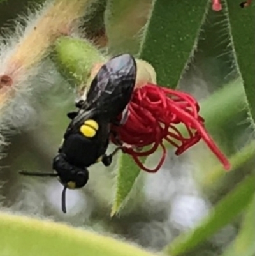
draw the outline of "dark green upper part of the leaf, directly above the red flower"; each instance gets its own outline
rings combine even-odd
[[[159,85],[177,87],[187,61],[193,56],[209,2],[154,1],[139,57],[155,68]]]

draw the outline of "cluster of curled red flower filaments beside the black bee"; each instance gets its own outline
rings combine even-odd
[[[198,115],[200,107],[191,95],[146,84],[135,89],[128,110],[126,122],[120,126],[112,125],[112,130],[120,141],[130,146],[124,146],[122,150],[130,154],[141,169],[157,172],[161,168],[166,158],[163,140],[175,146],[177,148],[175,154],[180,155],[200,139],[205,141],[225,169],[230,169],[230,162],[205,130],[204,119]],[[187,131],[186,137],[176,127],[177,124],[184,125]],[[113,137],[112,141],[117,144]],[[145,151],[139,150],[145,146],[151,147]],[[159,146],[163,149],[163,156],[156,168],[150,170],[140,162],[139,157],[149,156]]]

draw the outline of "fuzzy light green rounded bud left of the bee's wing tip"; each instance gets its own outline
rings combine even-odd
[[[54,61],[60,72],[78,84],[87,82],[94,64],[105,61],[94,45],[76,38],[59,38],[54,50]]]

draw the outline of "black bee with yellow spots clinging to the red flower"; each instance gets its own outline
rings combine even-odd
[[[112,154],[106,155],[110,139],[110,124],[116,122],[131,100],[136,80],[136,62],[130,54],[122,54],[104,64],[85,100],[76,103],[78,110],[69,112],[71,119],[62,146],[53,160],[56,173],[20,172],[30,176],[57,176],[63,184],[62,211],[66,213],[66,188],[82,188],[89,179],[90,167],[103,162],[108,166]]]

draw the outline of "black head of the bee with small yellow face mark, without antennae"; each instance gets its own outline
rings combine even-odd
[[[62,185],[69,189],[82,188],[89,180],[88,170],[71,165],[64,154],[55,156],[52,168],[57,172]]]

